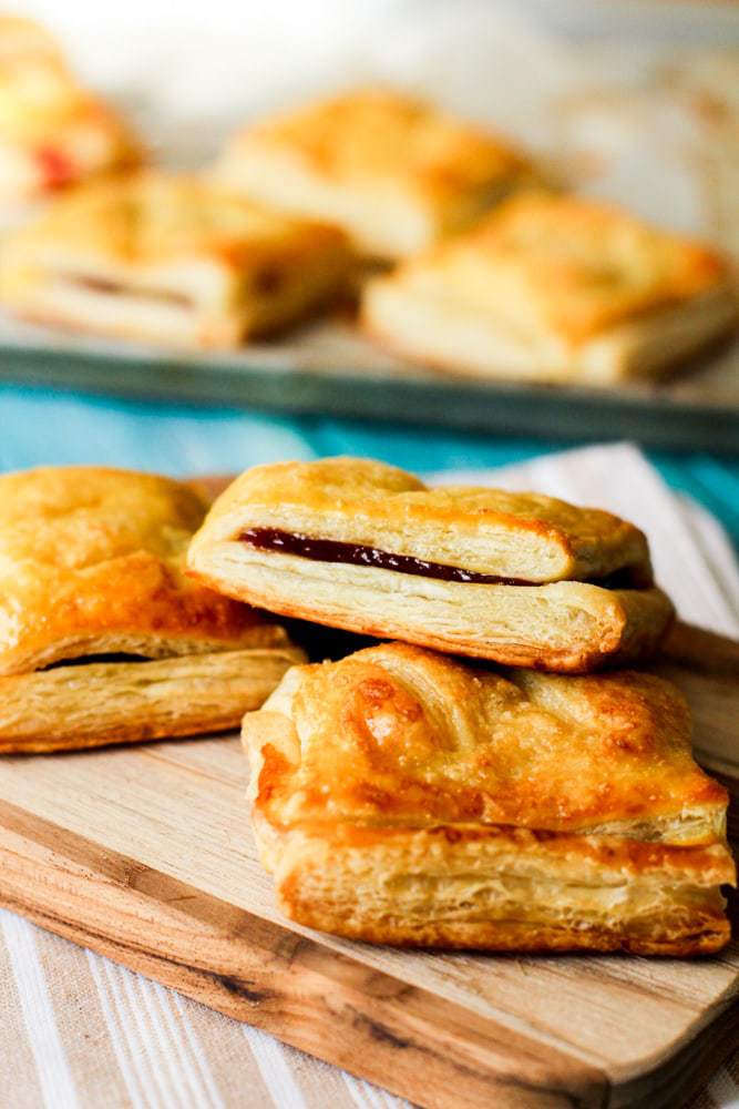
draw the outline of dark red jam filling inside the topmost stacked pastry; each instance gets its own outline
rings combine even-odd
[[[524,581],[522,578],[502,578],[496,573],[478,573],[475,570],[463,570],[459,566],[444,566],[442,562],[427,562],[424,559],[413,558],[410,554],[390,554],[377,547],[342,543],[336,539],[311,539],[310,536],[280,531],[278,528],[249,528],[247,531],[243,531],[238,538],[242,542],[256,547],[258,550],[296,554],[298,558],[311,559],[315,562],[373,566],[380,570],[412,573],[419,578],[438,578],[440,581],[469,581],[480,586],[542,584],[538,581]],[[597,584],[604,589],[634,588],[634,574],[630,568],[625,567],[623,570],[608,574],[607,578],[597,579]]]

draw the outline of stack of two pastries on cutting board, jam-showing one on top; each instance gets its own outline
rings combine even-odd
[[[727,942],[726,791],[678,691],[619,669],[673,617],[635,527],[379,462],[286,462],[220,496],[188,566],[393,640],[291,668],[244,719],[255,833],[295,920],[496,950]]]

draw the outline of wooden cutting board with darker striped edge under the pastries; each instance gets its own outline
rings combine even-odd
[[[739,782],[739,644],[678,627],[659,669]],[[234,737],[2,759],[0,903],[421,1106],[675,1107],[739,1044],[736,943],[694,962],[423,954],[284,920],[246,775]]]

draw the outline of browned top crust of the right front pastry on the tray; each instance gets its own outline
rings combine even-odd
[[[443,285],[522,333],[581,343],[727,279],[716,251],[609,205],[526,192],[472,232],[408,262],[403,281]]]

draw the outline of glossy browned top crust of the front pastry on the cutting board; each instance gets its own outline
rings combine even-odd
[[[480,670],[402,643],[294,668],[245,719],[274,826],[504,825],[722,838],[681,694],[650,674]]]

